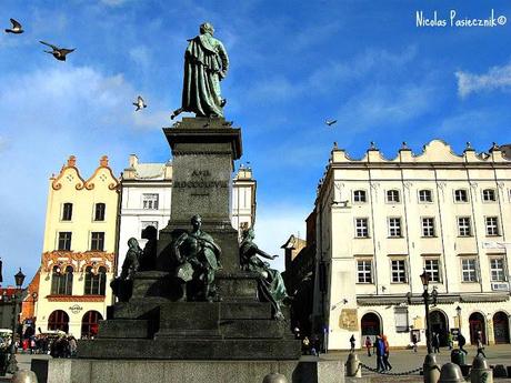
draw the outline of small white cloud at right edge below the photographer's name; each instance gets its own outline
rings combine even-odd
[[[473,74],[458,71],[458,94],[461,98],[470,93],[489,92],[492,90],[511,90],[511,63],[503,67],[493,67],[484,74]]]

